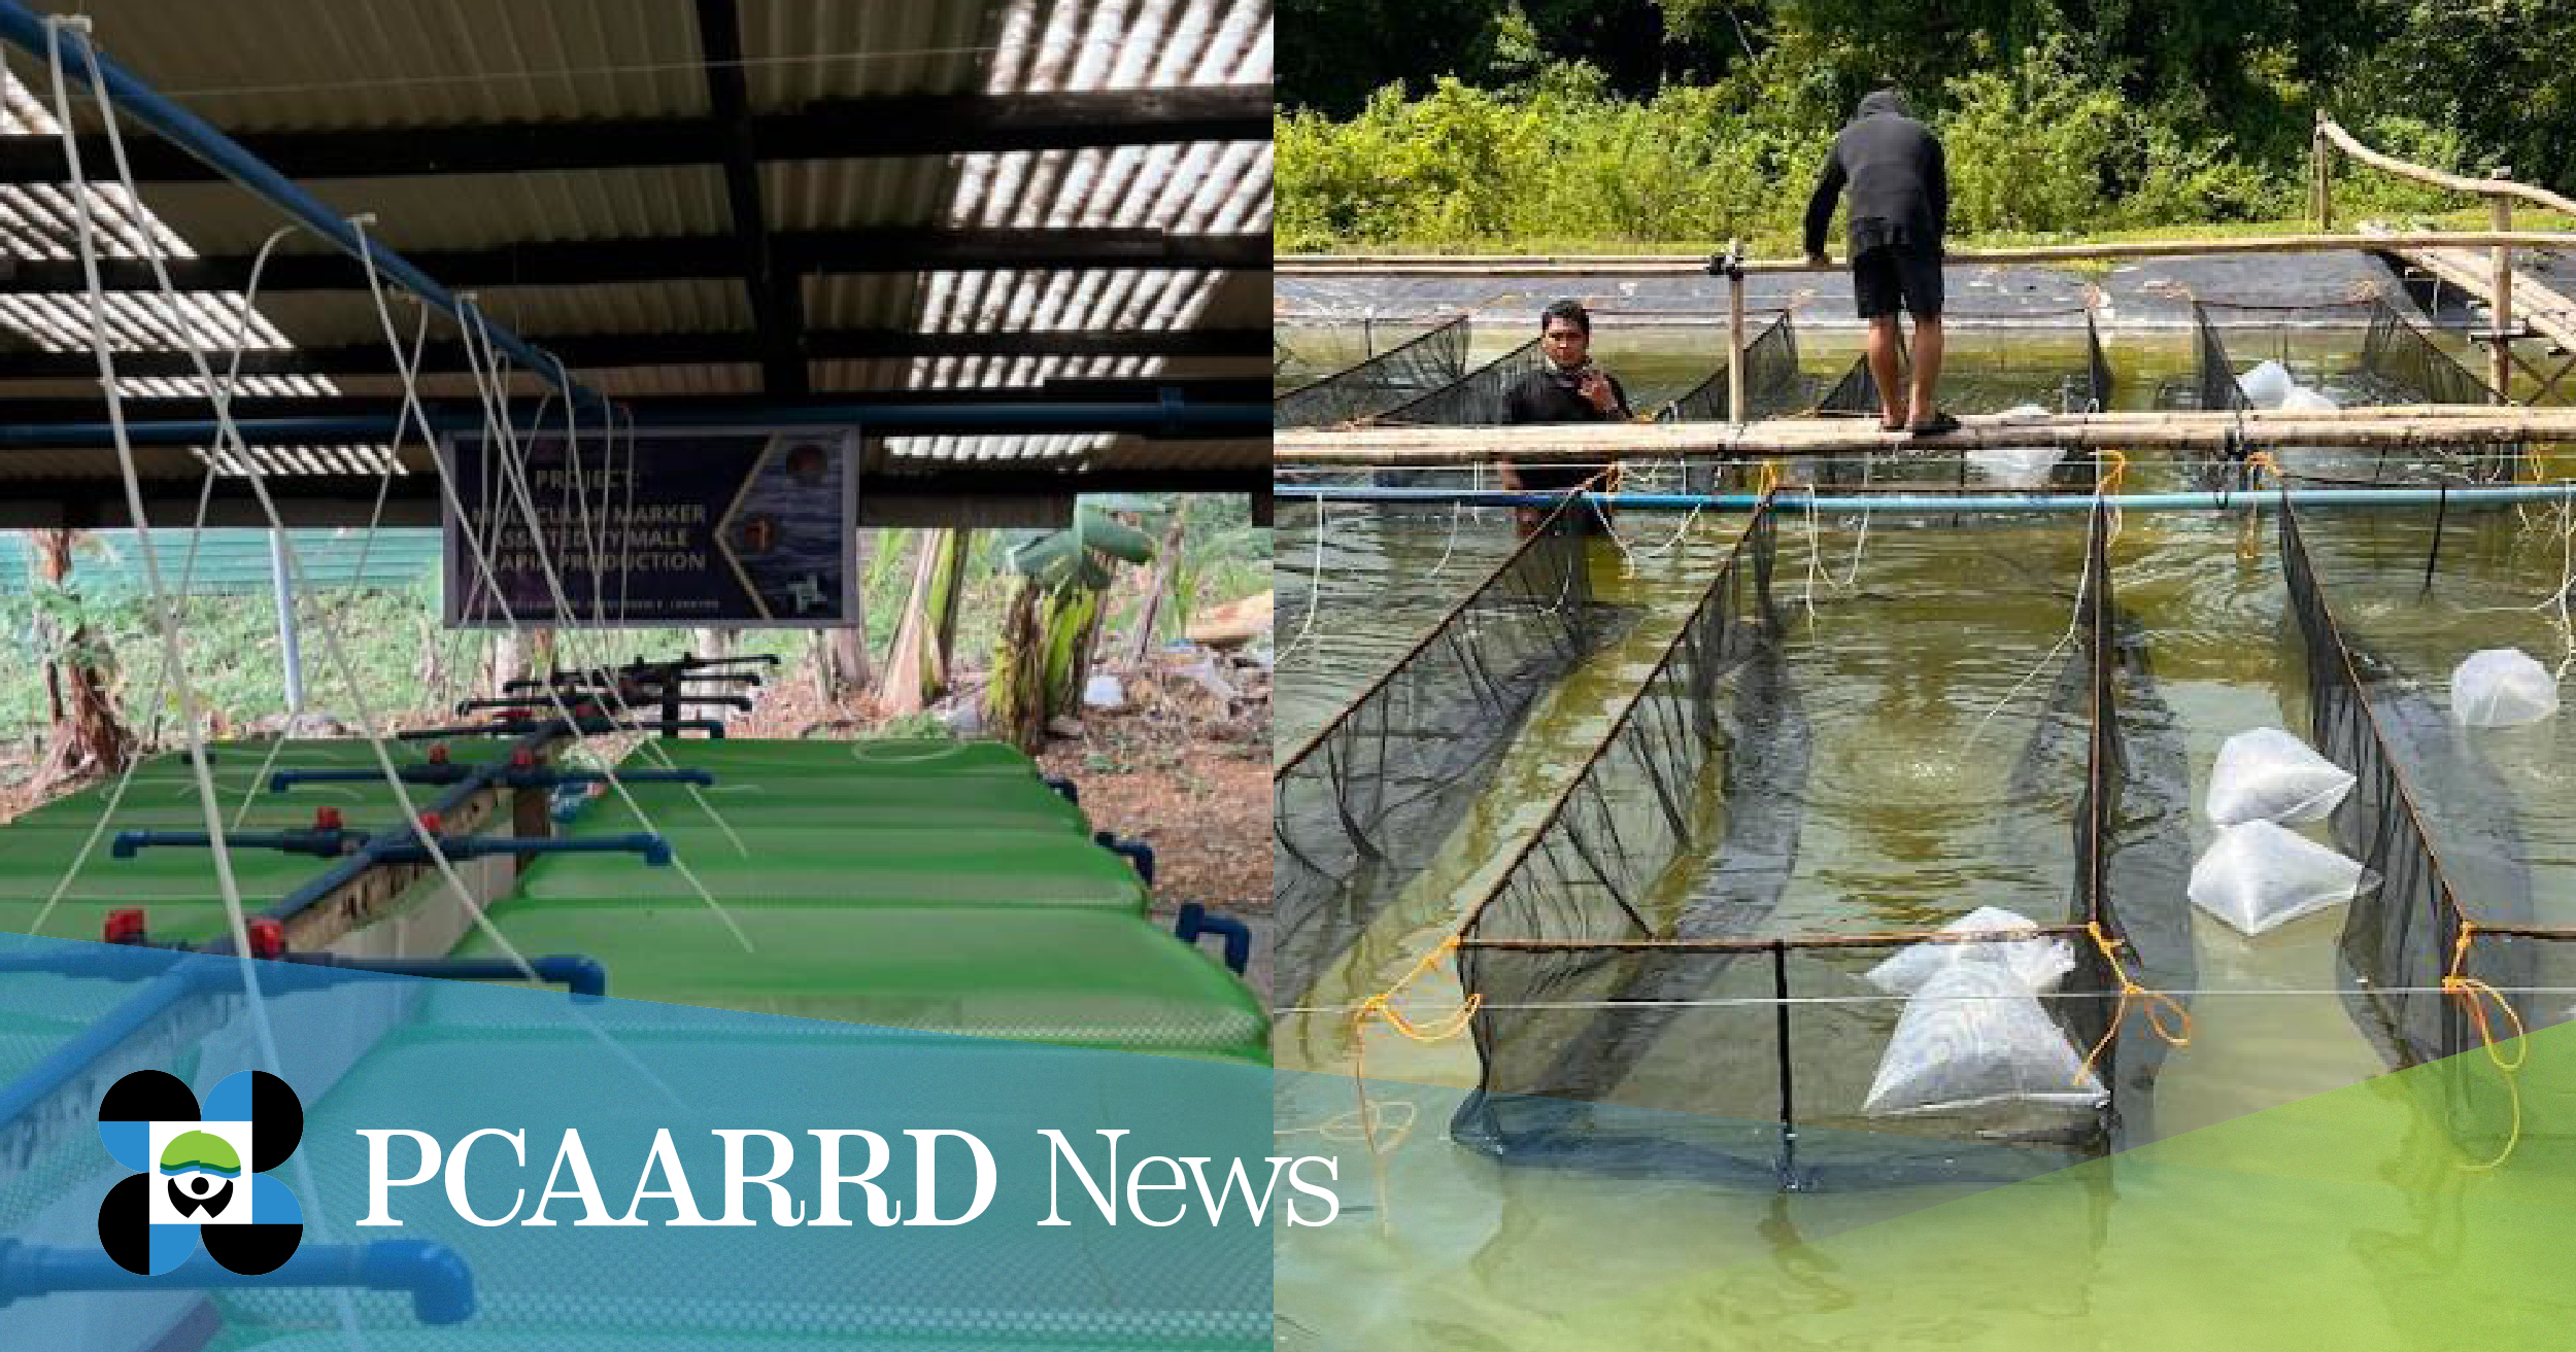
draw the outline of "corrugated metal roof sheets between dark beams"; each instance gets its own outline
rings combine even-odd
[[[232,131],[399,129],[466,121],[696,116],[706,72],[688,5],[626,0],[49,0],[95,18],[106,52]],[[902,93],[1144,90],[1270,80],[1265,0],[755,0],[742,5],[744,82],[755,108]],[[21,72],[44,75],[18,57]],[[8,116],[49,129],[36,95],[8,82]],[[93,165],[93,173],[98,167]],[[770,229],[902,224],[1015,229],[1267,232],[1270,144],[1154,144],[922,160],[770,162],[760,167]],[[716,165],[456,178],[332,180],[317,196],[374,211],[374,234],[417,250],[520,239],[639,239],[724,234]],[[0,247],[70,258],[59,191],[0,191]],[[252,252],[278,216],[232,185],[155,185],[139,229],[173,255]],[[139,239],[116,252],[131,255]],[[294,242],[289,247],[312,247]],[[716,270],[726,270],[724,258]],[[1265,273],[1247,273],[1267,291]],[[1257,327],[1239,276],[1190,270],[1018,270],[819,276],[804,281],[809,327],[1170,330]],[[1231,296],[1231,299],[1226,299]],[[739,281],[621,286],[484,286],[482,306],[523,332],[742,332],[752,312]],[[1216,306],[1216,309],[1211,309]],[[180,324],[229,345],[240,296],[111,301],[116,340],[178,345]],[[1224,317],[1218,317],[1224,312]],[[397,324],[410,314],[397,312]],[[77,299],[0,296],[0,330],[49,350],[85,350]],[[381,337],[363,294],[273,294],[250,319],[255,345],[366,345]],[[451,337],[433,324],[433,337]],[[1188,371],[1247,373],[1249,358],[1193,358]],[[1028,386],[1048,376],[1151,376],[1144,358],[817,361],[817,389],[956,384]],[[747,394],[752,366],[652,366],[585,373],[611,394]],[[183,394],[193,381],[137,381]],[[26,391],[26,384],[13,386]],[[245,391],[392,394],[389,379],[252,379]],[[459,381],[433,381],[456,391]],[[914,438],[899,458],[1079,458],[1108,438]],[[1151,443],[1172,446],[1172,443]],[[1141,451],[1139,451],[1141,453]],[[281,466],[327,464],[281,448]],[[0,474],[23,471],[18,461]],[[185,464],[180,453],[180,466]]]

